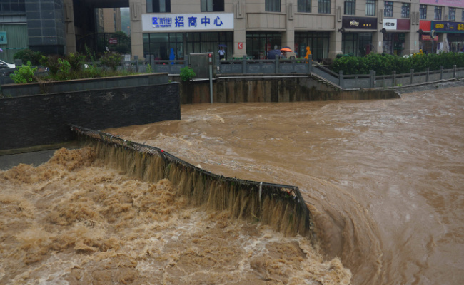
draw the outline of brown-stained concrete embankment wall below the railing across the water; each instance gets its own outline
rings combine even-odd
[[[173,80],[178,78],[171,77]],[[236,76],[213,81],[213,103],[400,98],[395,90],[336,90],[309,76]],[[181,83],[181,103],[209,103],[209,81]]]

